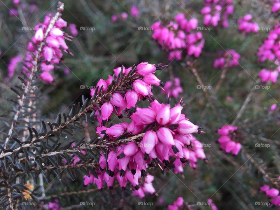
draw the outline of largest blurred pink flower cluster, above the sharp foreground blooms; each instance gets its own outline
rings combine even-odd
[[[155,22],[153,38],[169,53],[168,59],[181,60],[182,52],[186,50],[188,55],[199,57],[204,47],[204,39],[201,32],[191,32],[197,29],[198,21],[195,18],[187,20],[183,13],[174,17],[176,22],[170,21],[166,26]]]

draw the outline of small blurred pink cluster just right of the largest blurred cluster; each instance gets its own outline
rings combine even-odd
[[[224,67],[231,68],[239,65],[240,55],[235,50],[227,50],[223,53],[222,57],[214,61],[214,68],[223,69]]]

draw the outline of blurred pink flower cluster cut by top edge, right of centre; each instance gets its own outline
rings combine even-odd
[[[204,15],[203,23],[206,26],[217,26],[222,21],[222,26],[228,28],[228,15],[233,11],[232,0],[205,0],[200,13]]]

